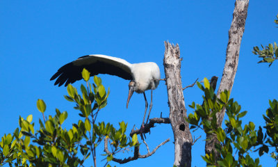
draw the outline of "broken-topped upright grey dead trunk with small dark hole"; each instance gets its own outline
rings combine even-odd
[[[186,106],[181,85],[179,45],[165,42],[164,70],[166,77],[170,123],[174,132],[174,165],[191,166],[192,136],[186,122]]]

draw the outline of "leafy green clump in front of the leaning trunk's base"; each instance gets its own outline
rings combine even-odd
[[[219,157],[206,154],[202,156],[204,161],[210,166],[260,166],[259,158],[252,159],[250,152],[258,145],[257,136],[261,131],[255,130],[253,122],[242,125],[240,118],[243,118],[247,111],[240,111],[240,105],[229,99],[228,91],[220,93],[218,98],[207,79],[204,79],[204,86],[199,83],[197,85],[204,91],[204,102],[202,105],[195,102],[190,105],[195,111],[189,114],[187,121],[191,124],[191,129],[203,129],[206,134],[216,136],[218,143],[215,144],[215,150],[220,154]],[[216,119],[216,114],[224,108],[229,118],[224,121],[226,129],[219,127]]]

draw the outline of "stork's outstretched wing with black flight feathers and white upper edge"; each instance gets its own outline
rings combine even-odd
[[[122,58],[115,58],[101,54],[87,55],[78,58],[76,61],[67,63],[60,67],[50,80],[55,81],[55,85],[65,86],[82,79],[82,70],[85,68],[90,72],[90,76],[97,74],[111,74],[122,79],[133,79],[131,74],[131,63]]]

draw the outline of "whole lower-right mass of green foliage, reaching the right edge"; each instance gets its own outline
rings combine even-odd
[[[202,156],[204,161],[211,166],[261,166],[259,158],[250,157],[251,152],[259,151],[259,156],[268,153],[270,148],[275,151],[270,156],[278,162],[278,102],[269,101],[270,108],[266,111],[265,120],[266,133],[263,134],[263,128],[255,129],[253,122],[242,125],[242,118],[247,111],[240,111],[241,106],[233,99],[229,99],[229,92],[220,93],[220,98],[216,97],[213,88],[209,86],[208,80],[204,79],[204,86],[197,83],[198,87],[204,91],[203,104],[193,102],[190,108],[194,113],[188,116],[190,129],[203,129],[206,134],[215,135],[218,143],[215,149],[220,157],[215,154],[206,154]],[[218,127],[216,122],[216,113],[226,109],[228,120],[224,120],[226,129]],[[256,149],[257,148],[257,149]],[[256,149],[256,150],[252,150]],[[218,159],[215,164],[215,159]],[[277,163],[278,166],[278,163]]]

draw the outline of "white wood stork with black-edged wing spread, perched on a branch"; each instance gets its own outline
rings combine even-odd
[[[142,127],[144,127],[148,107],[145,90],[151,90],[151,104],[149,104],[150,114],[152,110],[152,91],[157,88],[161,79],[161,73],[156,63],[147,62],[131,64],[122,58],[101,54],[87,55],[60,67],[58,72],[56,72],[50,80],[57,78],[54,85],[58,84],[58,86],[62,86],[65,84],[65,86],[67,86],[68,84],[72,84],[75,81],[82,79],[81,72],[83,68],[90,72],[90,76],[97,74],[111,74],[121,77],[122,79],[131,80],[129,82],[129,95],[127,97],[126,109],[129,106],[129,100],[131,99],[133,92],[143,93],[145,98],[145,113]],[[146,123],[149,120],[149,114]]]

